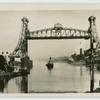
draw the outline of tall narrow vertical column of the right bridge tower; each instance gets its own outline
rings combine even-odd
[[[94,27],[95,27],[95,17],[90,16],[89,17],[89,23],[90,23],[90,28],[89,28],[89,33],[90,33],[90,50],[91,50],[91,55],[90,55],[90,92],[93,92],[94,90]]]

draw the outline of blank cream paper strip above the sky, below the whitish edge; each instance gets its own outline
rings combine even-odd
[[[0,11],[100,10],[100,3],[0,3]]]

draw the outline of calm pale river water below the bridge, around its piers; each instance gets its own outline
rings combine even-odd
[[[85,92],[90,90],[90,73],[85,66],[55,62],[48,70],[46,61],[35,61],[28,76],[28,92]],[[100,73],[95,71],[95,88],[99,86]],[[9,81],[5,88],[8,93],[21,93],[21,77]]]

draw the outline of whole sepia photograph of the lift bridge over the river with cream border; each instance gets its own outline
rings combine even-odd
[[[100,93],[100,9],[32,6],[0,8],[0,93]]]

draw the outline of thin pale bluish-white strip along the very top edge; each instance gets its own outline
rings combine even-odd
[[[100,0],[0,0],[0,3],[100,3]]]

